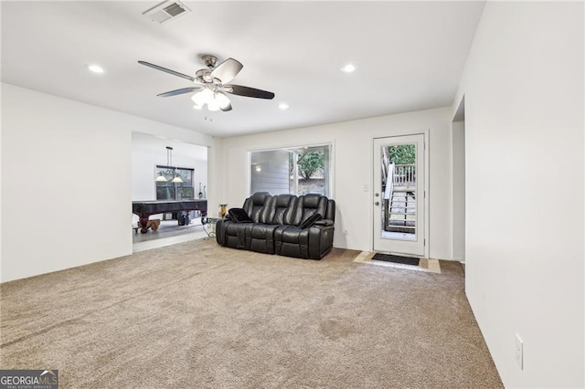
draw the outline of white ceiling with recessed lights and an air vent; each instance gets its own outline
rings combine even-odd
[[[452,103],[484,7],[185,2],[192,14],[159,25],[142,15],[157,3],[2,1],[2,81],[220,137],[431,109]],[[189,81],[136,62],[195,75],[200,54],[238,59],[232,82],[275,99],[194,110],[188,94],[156,97]],[[355,73],[340,71],[347,62]]]

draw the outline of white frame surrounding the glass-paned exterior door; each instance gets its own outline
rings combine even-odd
[[[370,181],[370,188],[372,188],[372,192],[370,195],[370,204],[369,204],[369,215],[370,215],[370,220],[369,220],[369,226],[370,226],[370,233],[371,238],[370,238],[370,251],[374,251],[374,238],[377,232],[374,231],[374,212],[377,209],[377,206],[374,205],[375,203],[375,197],[374,197],[374,188],[375,188],[375,182],[374,182],[374,171],[373,169],[379,169],[379,163],[374,165],[374,142],[377,139],[382,139],[382,138],[396,138],[396,137],[400,137],[400,136],[408,136],[408,135],[420,135],[422,134],[424,136],[424,151],[423,151],[423,158],[424,158],[424,191],[423,191],[423,195],[424,195],[424,232],[423,232],[423,237],[424,237],[424,241],[425,241],[425,245],[424,245],[424,257],[423,258],[430,258],[429,257],[429,253],[430,253],[430,249],[429,247],[431,247],[431,240],[430,240],[430,197],[431,197],[431,192],[429,190],[429,183],[430,183],[430,176],[431,176],[431,172],[430,172],[430,161],[429,161],[429,143],[430,143],[430,130],[426,129],[423,131],[413,131],[413,132],[407,132],[407,133],[396,133],[396,134],[391,134],[388,136],[377,136],[377,137],[372,137],[371,139],[371,157],[370,157],[370,169],[371,170],[371,181]],[[378,208],[379,209],[379,208]]]

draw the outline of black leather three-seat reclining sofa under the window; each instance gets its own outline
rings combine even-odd
[[[238,220],[232,209],[218,220],[219,245],[307,259],[324,258],[333,248],[335,201],[324,195],[259,192],[241,209],[249,220]]]

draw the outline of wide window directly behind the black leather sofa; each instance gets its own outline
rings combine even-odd
[[[250,152],[250,195],[320,194],[330,197],[331,144]]]

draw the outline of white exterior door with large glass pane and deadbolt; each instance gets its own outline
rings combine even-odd
[[[424,135],[374,140],[374,251],[424,257]]]

